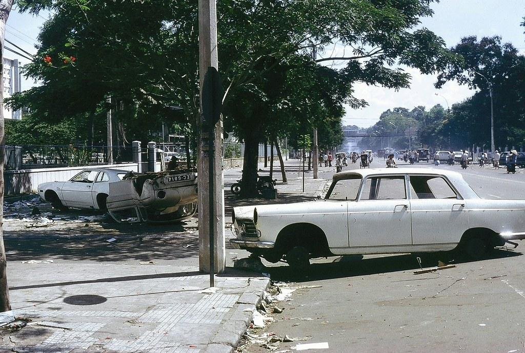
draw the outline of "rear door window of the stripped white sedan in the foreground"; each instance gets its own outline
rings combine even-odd
[[[410,194],[412,199],[457,199],[456,191],[447,181],[438,176],[410,176]]]

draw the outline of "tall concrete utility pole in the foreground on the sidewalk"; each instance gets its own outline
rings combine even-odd
[[[213,274],[222,273],[225,268],[224,243],[224,190],[222,156],[222,118],[211,122],[205,116],[205,106],[217,97],[216,91],[207,97],[205,78],[212,77],[218,69],[217,59],[217,15],[215,0],[199,0],[199,76],[201,92],[200,136],[198,145],[198,233],[199,269],[210,274],[210,286],[214,285]],[[208,97],[209,96],[209,97]],[[219,98],[219,102],[222,97]],[[206,109],[207,110],[207,109]],[[210,114],[213,115],[213,114]],[[209,122],[209,124],[208,124]],[[210,134],[209,132],[212,132]],[[212,136],[212,139],[209,137]],[[211,141],[213,140],[213,141]],[[212,147],[212,148],[210,148]],[[212,162],[213,169],[209,169]]]

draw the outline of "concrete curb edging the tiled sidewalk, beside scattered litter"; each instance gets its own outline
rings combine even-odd
[[[217,333],[213,336],[203,353],[233,353],[241,338],[246,333],[250,322],[251,313],[256,309],[262,299],[262,293],[270,285],[266,277],[250,278],[248,288],[240,296],[231,315],[223,320]]]

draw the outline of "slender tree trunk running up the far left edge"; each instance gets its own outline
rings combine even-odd
[[[5,24],[13,0],[0,1],[0,46],[2,55],[0,58],[0,104],[4,106],[4,36]],[[4,136],[4,110],[0,109],[0,313],[7,312],[11,309],[9,302],[9,286],[7,285],[7,259],[4,248],[4,157],[5,157],[5,136]]]

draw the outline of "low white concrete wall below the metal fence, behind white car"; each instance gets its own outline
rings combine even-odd
[[[90,167],[64,167],[64,168],[39,168],[25,170],[6,170],[4,172],[5,195],[25,194],[36,192],[38,184],[48,181],[64,181],[75,176],[80,170]],[[114,168],[133,170],[137,172],[136,163],[123,163],[113,165],[92,166],[92,168]]]

